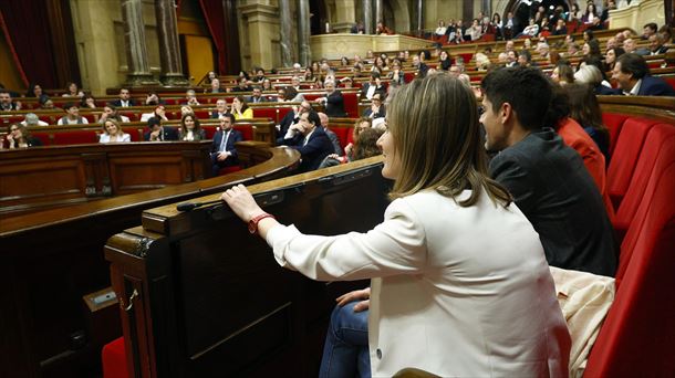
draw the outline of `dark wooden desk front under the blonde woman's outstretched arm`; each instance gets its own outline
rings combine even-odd
[[[380,169],[381,159],[372,158],[250,189],[267,211],[304,232],[366,231],[382,220],[388,203]],[[113,237],[105,249],[113,281],[132,273],[137,277],[139,271],[145,280],[145,296],[136,301],[144,303],[147,324],[122,313],[129,329],[125,337],[138,346],[127,349],[127,358],[142,364],[135,371],[156,371],[150,377],[316,375],[334,298],[367,283],[326,285],[281,269],[264,241],[251,237],[224,206],[186,213],[172,203],[143,218],[144,228]],[[136,327],[152,334],[131,332]]]

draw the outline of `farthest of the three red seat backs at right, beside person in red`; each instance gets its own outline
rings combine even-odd
[[[619,208],[629,189],[644,138],[656,123],[658,122],[654,119],[629,118],[623,124],[608,170],[608,193],[614,203],[614,209]]]

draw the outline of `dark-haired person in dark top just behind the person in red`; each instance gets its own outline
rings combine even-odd
[[[602,151],[605,166],[610,165],[610,132],[602,122],[602,112],[593,87],[577,84],[565,87],[570,102],[570,118],[573,118],[591,136]]]

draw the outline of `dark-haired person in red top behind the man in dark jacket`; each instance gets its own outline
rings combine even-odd
[[[585,88],[594,96],[592,90],[588,86]],[[560,135],[562,141],[572,147],[581,156],[583,165],[593,178],[593,181],[595,181],[600,195],[605,200],[605,203],[610,204],[610,209],[612,209],[611,201],[605,191],[606,165],[604,155],[595,141],[591,139],[591,136],[584,132],[574,118],[570,117],[570,98],[568,96],[570,92],[565,90],[567,87],[553,87],[553,98],[548,107],[543,124],[551,125],[558,135]]]

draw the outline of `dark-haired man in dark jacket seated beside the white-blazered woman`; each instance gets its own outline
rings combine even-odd
[[[498,69],[481,87],[486,149],[498,153],[490,175],[539,233],[549,264],[614,276],[619,251],[600,191],[579,154],[543,125],[549,80],[536,69]]]

